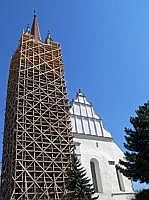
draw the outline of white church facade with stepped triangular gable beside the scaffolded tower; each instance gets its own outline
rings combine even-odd
[[[100,200],[130,200],[131,181],[116,170],[124,157],[92,104],[79,90],[70,108],[76,154],[99,193]]]

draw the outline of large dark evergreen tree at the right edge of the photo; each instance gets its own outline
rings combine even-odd
[[[140,106],[130,118],[132,128],[125,128],[126,160],[120,160],[120,171],[133,181],[149,183],[149,102]]]

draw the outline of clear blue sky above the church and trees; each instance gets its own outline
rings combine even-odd
[[[123,149],[130,115],[149,99],[149,1],[2,1],[1,144],[9,63],[34,9],[42,38],[49,30],[61,43],[69,98],[81,88]]]

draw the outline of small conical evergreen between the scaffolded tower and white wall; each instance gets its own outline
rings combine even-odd
[[[85,169],[81,166],[75,154],[71,158],[71,168],[68,173],[67,189],[69,200],[96,200],[95,190],[90,179],[86,176]]]

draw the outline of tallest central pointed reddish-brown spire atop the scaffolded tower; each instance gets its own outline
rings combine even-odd
[[[33,19],[33,24],[31,28],[31,34],[34,36],[35,40],[41,40],[37,16],[35,13],[34,13],[34,19]]]

